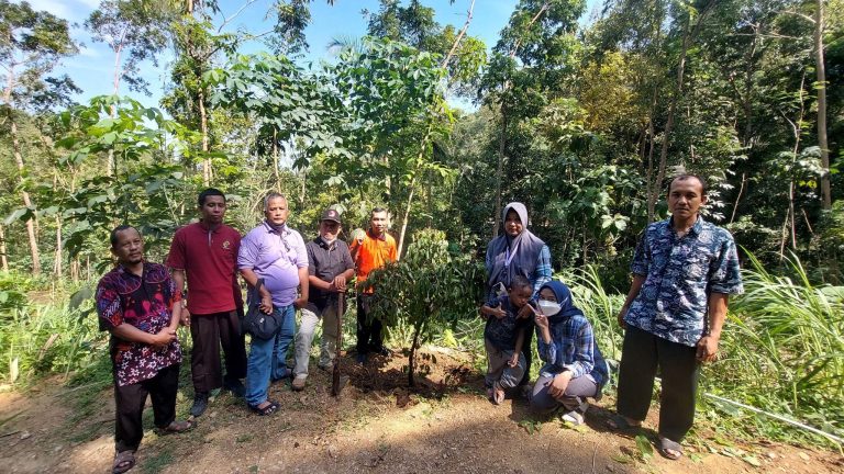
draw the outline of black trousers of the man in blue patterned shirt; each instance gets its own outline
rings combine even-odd
[[[619,414],[644,420],[657,366],[663,379],[659,435],[679,442],[695,421],[700,363],[697,349],[628,326],[619,369]]]

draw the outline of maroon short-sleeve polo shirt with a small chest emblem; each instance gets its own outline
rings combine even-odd
[[[208,315],[243,305],[237,285],[241,234],[227,225],[210,229],[204,223],[176,230],[167,267],[184,270],[188,280],[188,311]]]

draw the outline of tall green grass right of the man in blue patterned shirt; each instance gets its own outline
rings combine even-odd
[[[712,391],[844,436],[844,287],[814,285],[796,257],[790,275],[749,261]]]

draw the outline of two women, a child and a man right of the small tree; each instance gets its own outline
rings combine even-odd
[[[615,431],[635,431],[647,415],[657,371],[658,452],[682,455],[691,429],[700,364],[714,361],[731,294],[743,292],[733,237],[701,217],[707,183],[680,174],[668,187],[667,219],[647,226],[631,264],[633,281],[618,315],[624,328],[618,374]],[[592,326],[575,306],[568,286],[551,279],[548,247],[528,230],[521,203],[503,210],[503,235],[487,248],[487,395],[500,404],[510,393],[538,413],[562,408],[562,418],[584,422],[587,398],[599,398],[609,366]],[[529,384],[532,334],[544,362]]]

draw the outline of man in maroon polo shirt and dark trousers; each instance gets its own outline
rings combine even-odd
[[[243,298],[237,285],[237,249],[241,234],[223,224],[225,195],[209,188],[197,200],[201,219],[176,230],[167,267],[180,292],[187,278],[190,297],[181,301],[181,323],[190,327],[193,348],[190,371],[193,406],[190,414],[202,415],[212,390],[225,387],[242,397],[246,376],[246,349],[241,331]],[[191,317],[191,315],[193,317]],[[220,346],[225,353],[225,376]]]

